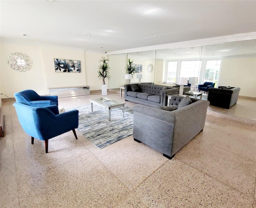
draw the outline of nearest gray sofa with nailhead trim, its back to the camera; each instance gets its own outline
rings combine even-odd
[[[207,100],[183,96],[172,96],[171,106],[137,104],[132,107],[134,140],[172,158],[203,130],[209,104]]]

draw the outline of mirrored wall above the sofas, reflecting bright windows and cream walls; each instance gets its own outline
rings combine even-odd
[[[256,40],[204,46],[170,48],[108,56],[111,66],[110,89],[127,83],[127,58],[138,65],[141,82],[172,86],[178,77],[198,77],[218,86],[240,87],[240,95],[256,97]],[[150,66],[152,66],[150,68]],[[138,82],[136,75],[130,82]]]

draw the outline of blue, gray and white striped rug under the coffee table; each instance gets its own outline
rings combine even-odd
[[[77,130],[98,148],[104,148],[114,142],[133,134],[133,111],[130,106],[124,106],[124,117],[122,108],[111,109],[111,120],[108,121],[108,110],[93,104],[66,108],[65,111],[79,110],[79,125]]]

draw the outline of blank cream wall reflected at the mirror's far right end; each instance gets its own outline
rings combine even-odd
[[[256,57],[223,58],[219,86],[240,87],[240,96],[256,97]]]

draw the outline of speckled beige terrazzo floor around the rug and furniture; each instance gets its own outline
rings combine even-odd
[[[59,105],[98,96],[60,98]],[[209,106],[203,132],[168,160],[132,136],[100,150],[78,131],[78,140],[72,132],[49,140],[46,154],[44,142],[32,145],[22,130],[13,102],[2,101],[1,208],[256,208],[256,119],[238,117],[244,109]]]

